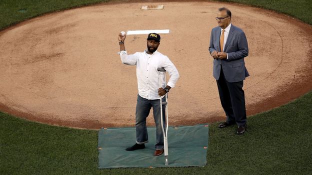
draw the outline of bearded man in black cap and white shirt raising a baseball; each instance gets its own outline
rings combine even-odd
[[[147,50],[144,52],[136,52],[128,55],[125,51],[124,40],[126,35],[118,35],[120,46],[121,62],[126,65],[136,66],[137,78],[137,103],[135,110],[135,130],[136,143],[126,151],[134,151],[144,149],[145,143],[148,142],[146,118],[151,108],[153,108],[153,116],[156,125],[156,144],[154,156],[163,153],[163,134],[161,129],[160,118],[160,102],[165,101],[163,97],[169,92],[170,88],[175,86],[179,78],[178,71],[169,58],[157,51],[160,44],[160,35],[157,33],[149,33],[147,37]],[[165,74],[159,73],[157,68],[164,68],[170,75],[170,79],[165,87]],[[161,76],[161,87],[159,87],[159,75]],[[165,126],[165,105],[162,106],[163,126]]]

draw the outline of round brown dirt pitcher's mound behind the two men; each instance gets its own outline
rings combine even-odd
[[[180,79],[169,93],[169,125],[225,119],[212,77],[208,44],[217,8],[247,36],[247,114],[285,104],[312,89],[312,27],[283,14],[217,2],[107,3],[36,17],[0,32],[0,111],[37,122],[98,129],[134,126],[135,67],[121,64],[121,30],[170,29],[159,52]],[[128,35],[129,53],[146,35]],[[152,114],[152,113],[151,113]],[[148,117],[147,124],[154,125]]]

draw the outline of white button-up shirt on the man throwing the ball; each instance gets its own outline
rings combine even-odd
[[[148,100],[159,99],[159,73],[161,76],[161,87],[165,87],[164,72],[157,71],[157,68],[164,68],[168,72],[170,79],[168,86],[173,88],[179,78],[179,73],[169,58],[158,51],[153,54],[136,52],[128,55],[126,51],[118,52],[121,62],[127,65],[136,65],[136,78],[138,95]]]

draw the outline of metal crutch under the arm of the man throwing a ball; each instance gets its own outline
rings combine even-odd
[[[164,72],[164,86],[166,86],[166,75],[165,75],[165,70],[164,68],[157,68],[157,71],[158,71],[158,75],[159,75],[159,87],[161,87],[161,74],[160,72]],[[168,103],[167,103],[167,99],[168,99],[168,94],[166,93],[165,94],[165,102],[162,102],[161,99],[163,98],[160,97],[159,100],[160,100],[160,118],[161,118],[161,129],[162,129],[162,134],[163,134],[163,147],[164,147],[164,159],[165,159],[165,163],[164,165],[169,165],[168,164],[168,139],[167,139],[167,133],[168,133]],[[165,105],[165,116],[166,116],[166,129],[164,131],[164,128],[163,128],[163,118],[162,118],[162,105]]]

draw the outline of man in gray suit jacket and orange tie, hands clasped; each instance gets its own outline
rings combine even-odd
[[[245,33],[230,23],[231,12],[225,7],[218,9],[218,27],[212,28],[209,52],[213,57],[213,77],[216,79],[220,101],[226,115],[225,128],[236,124],[236,134],[246,129],[245,96],[243,80],[249,76],[244,63],[248,55]]]

